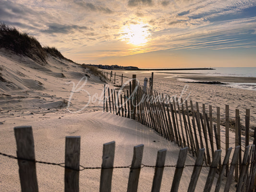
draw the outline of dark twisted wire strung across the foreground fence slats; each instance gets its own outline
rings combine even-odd
[[[83,171],[85,169],[109,169],[109,168],[102,168],[102,167],[85,167],[85,166],[82,166],[82,165],[79,165],[80,169],[75,169],[75,168],[66,167],[65,163],[51,163],[51,162],[46,162],[46,161],[37,161],[37,160],[32,160],[32,159],[26,159],[26,158],[20,158],[20,157],[17,157],[17,156],[7,155],[7,154],[4,154],[4,153],[0,153],[0,155],[1,156],[6,156],[6,157],[12,158],[12,159],[17,159],[17,160],[24,160],[24,161],[31,161],[31,162],[40,163],[40,164],[60,166],[62,168],[68,168],[68,169],[75,170],[75,171]],[[255,160],[253,162],[250,162],[250,163],[242,164],[242,166],[248,166],[248,165],[254,164],[254,163],[255,163]],[[183,167],[177,167],[177,165],[164,165],[164,166],[159,167],[159,166],[141,164],[140,168],[186,168],[186,167],[218,168],[218,167],[228,166],[228,165],[238,165],[238,164],[227,163],[227,164],[221,164],[217,167],[212,167],[211,165],[200,165],[200,166],[198,166],[198,165],[184,165]],[[129,165],[129,166],[114,166],[114,167],[112,167],[112,169],[113,168],[131,168],[131,166],[132,165]],[[133,169],[133,168],[131,168],[131,169]],[[138,168],[135,168],[135,169],[138,169]]]

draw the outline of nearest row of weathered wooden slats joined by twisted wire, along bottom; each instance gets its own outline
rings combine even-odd
[[[35,148],[34,148],[34,138],[31,126],[15,127],[14,134],[17,144],[17,159],[19,166],[19,175],[22,192],[38,192],[37,184],[37,171],[36,163],[44,163],[51,165],[61,165],[55,163],[41,162],[36,161],[35,159]],[[146,166],[142,164],[144,145],[140,144],[134,146],[134,155],[129,173],[127,192],[137,192],[139,175],[142,166],[144,167],[153,167]],[[218,149],[214,152],[212,161],[208,166],[208,175],[205,182],[204,192],[210,192],[213,187],[213,181],[217,173],[219,166],[219,176],[215,185],[215,192],[219,192],[220,186],[224,185],[224,192],[229,192],[231,187],[231,181],[233,177],[233,172],[235,166],[237,165],[238,156],[239,156],[240,146],[236,146],[233,151],[233,157],[230,164],[230,170],[227,175],[226,183],[222,183],[222,178],[226,167],[228,166],[228,159],[230,157],[232,148],[229,148],[223,163],[219,165],[221,150]],[[166,158],[166,149],[158,151],[157,160],[154,178],[152,181],[151,192],[159,192],[161,187],[161,180],[163,175],[163,170],[165,167],[175,167],[175,173],[172,179],[171,192],[178,192],[180,180],[182,177],[183,169],[186,166],[185,160],[189,148],[184,147],[180,150],[177,164],[175,166],[165,165]],[[195,187],[203,166],[205,149],[201,148],[197,151],[197,157],[195,160],[195,165],[193,166],[193,172],[191,175],[191,180],[188,186],[188,192],[194,192]],[[115,142],[110,142],[103,144],[103,155],[102,155],[102,165],[100,173],[100,187],[99,192],[110,192],[111,191],[111,182],[112,182],[112,173],[113,168],[118,168],[113,166],[115,155]],[[252,192],[254,187],[254,177],[256,174],[255,162],[253,158],[255,155],[255,145],[246,146],[244,151],[244,157],[242,161],[242,167],[240,170],[239,180],[237,184],[236,192]],[[80,169],[80,136],[67,136],[65,143],[65,175],[64,175],[64,189],[65,192],[79,192],[79,172]],[[123,167],[123,168],[128,168]],[[85,167],[83,167],[86,169]],[[119,167],[120,168],[120,167]],[[83,169],[83,170],[84,170]],[[84,181],[83,181],[84,182]]]

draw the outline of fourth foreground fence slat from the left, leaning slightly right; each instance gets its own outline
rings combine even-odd
[[[134,156],[132,166],[130,168],[127,192],[137,192],[143,148],[144,144],[134,146]]]

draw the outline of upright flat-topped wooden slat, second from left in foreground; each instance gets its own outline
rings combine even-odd
[[[66,136],[65,192],[79,192],[80,136]]]

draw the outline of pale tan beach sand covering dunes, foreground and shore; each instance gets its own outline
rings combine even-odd
[[[157,151],[168,150],[166,165],[176,165],[180,148],[152,129],[127,118],[102,112],[104,83],[88,69],[67,60],[49,58],[47,65],[38,65],[26,57],[1,50],[0,82],[0,152],[16,156],[13,127],[31,125],[35,140],[36,159],[63,163],[65,136],[81,136],[80,164],[85,167],[100,167],[102,145],[116,142],[114,166],[129,166],[133,147],[144,144],[142,163],[155,165]],[[108,71],[109,72],[109,71]],[[121,71],[117,71],[122,74]],[[125,81],[134,72],[123,72]],[[136,72],[140,82],[151,73]],[[90,76],[86,79],[85,74]],[[175,78],[163,79],[163,74],[154,77],[154,89],[170,96],[181,96],[221,107],[223,116],[225,104],[235,108],[251,109],[251,124],[255,125],[255,92],[233,89],[219,85],[187,84]],[[127,78],[126,78],[127,77]],[[125,82],[124,81],[124,82]],[[117,78],[116,84],[121,84]],[[187,90],[183,91],[187,86]],[[110,88],[117,88],[110,84]],[[243,118],[241,118],[243,119]],[[232,135],[232,134],[231,134]],[[185,164],[193,165],[195,157],[188,154]],[[20,191],[17,160],[0,156],[0,189],[5,192]],[[174,168],[165,168],[161,192],[171,190]],[[187,190],[193,168],[183,171],[179,191]],[[208,168],[202,168],[196,191],[203,191]],[[154,169],[142,168],[139,192],[151,189]],[[129,168],[114,169],[112,191],[126,191]],[[80,191],[96,192],[99,189],[100,169],[80,172]],[[40,192],[63,191],[64,168],[37,164],[37,180]],[[216,182],[216,178],[214,180]],[[232,183],[231,191],[235,190]],[[213,189],[214,190],[214,189]]]

